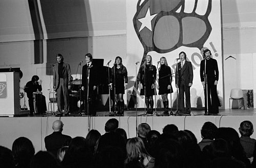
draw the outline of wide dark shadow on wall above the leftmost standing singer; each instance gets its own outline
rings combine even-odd
[[[47,31],[47,75],[52,74],[50,67],[56,62],[58,53],[70,64],[74,74],[78,63],[92,47],[92,40],[88,38],[92,35],[89,33],[92,32],[89,0],[44,0],[40,3]]]

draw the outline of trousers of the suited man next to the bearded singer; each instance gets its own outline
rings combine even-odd
[[[191,104],[190,104],[190,87],[186,86],[183,81],[181,81],[179,86],[179,92],[180,92],[180,111],[181,113],[187,113],[190,114],[191,112]],[[185,98],[184,99],[184,92],[185,92]],[[185,103],[186,103],[186,109],[185,109]]]

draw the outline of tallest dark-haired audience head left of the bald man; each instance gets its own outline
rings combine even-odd
[[[12,143],[12,154],[16,162],[16,167],[27,168],[31,158],[35,154],[35,149],[28,138],[19,137]]]

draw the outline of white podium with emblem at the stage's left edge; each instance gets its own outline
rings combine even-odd
[[[0,116],[19,115],[19,73],[0,73]]]

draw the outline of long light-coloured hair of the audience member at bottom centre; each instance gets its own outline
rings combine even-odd
[[[143,158],[143,155],[150,156],[147,153],[144,143],[141,138],[134,137],[127,141],[126,143],[126,151],[127,151],[127,158],[125,159],[124,163],[127,164],[134,160],[139,160],[140,156]]]

